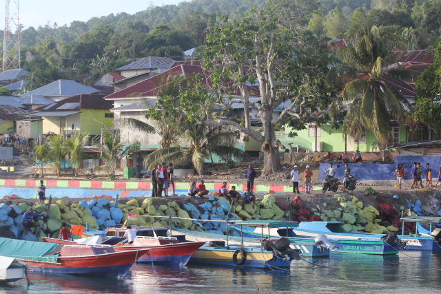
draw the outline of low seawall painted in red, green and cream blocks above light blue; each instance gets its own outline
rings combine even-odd
[[[1,180],[0,188],[1,196],[10,196],[16,194],[17,196],[25,199],[34,198],[37,194],[37,187],[39,186],[39,180]],[[46,196],[54,196],[57,198],[69,197],[69,198],[90,198],[94,195],[112,196],[116,197],[150,197],[152,196],[151,182],[139,181],[139,182],[114,182],[114,181],[99,181],[99,180],[47,180],[44,182]],[[178,195],[187,195],[188,182],[176,182],[176,193]],[[221,183],[205,183],[205,187],[210,192],[218,191],[222,186]],[[242,184],[228,184],[227,188],[231,189],[232,186],[236,186],[237,191],[246,191],[247,185]],[[316,187],[321,189],[321,187]],[[254,185],[254,191],[256,192],[292,192],[291,185]],[[304,191],[305,187],[300,187],[300,191]],[[170,189],[169,189],[170,193]]]

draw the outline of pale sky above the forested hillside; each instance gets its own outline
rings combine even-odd
[[[19,0],[20,23],[24,28],[39,25],[70,25],[72,21],[88,21],[92,17],[102,17],[111,13],[134,14],[150,6],[178,4],[183,0]],[[5,18],[5,3],[0,1],[1,19]],[[16,12],[14,1],[10,1],[10,14]],[[0,21],[3,23],[3,21]],[[3,30],[3,25],[1,30]]]

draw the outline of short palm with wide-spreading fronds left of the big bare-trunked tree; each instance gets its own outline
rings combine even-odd
[[[228,129],[213,128],[207,125],[198,125],[189,122],[181,123],[185,132],[183,139],[187,145],[182,147],[174,143],[171,147],[153,151],[144,159],[144,166],[151,169],[153,165],[161,162],[176,162],[183,164],[192,162],[198,174],[204,174],[204,162],[213,154],[223,158],[233,159],[242,158],[244,152],[236,147],[236,132]]]

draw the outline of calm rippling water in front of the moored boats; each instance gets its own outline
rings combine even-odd
[[[441,254],[406,252],[382,258],[333,253],[294,261],[291,270],[249,270],[188,265],[136,265],[125,278],[43,275],[0,286],[10,293],[441,293]]]

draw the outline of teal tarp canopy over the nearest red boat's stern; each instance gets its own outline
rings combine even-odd
[[[0,238],[0,255],[23,260],[57,262],[57,255],[45,256],[58,244]]]

